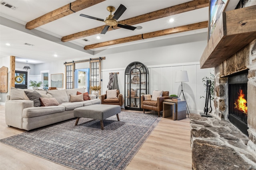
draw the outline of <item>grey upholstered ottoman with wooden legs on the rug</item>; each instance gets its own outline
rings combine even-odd
[[[90,106],[78,107],[74,109],[74,117],[77,117],[75,125],[77,125],[80,117],[97,119],[100,120],[101,129],[103,130],[103,120],[113,115],[116,115],[117,120],[120,121],[118,116],[118,113],[120,112],[121,106],[119,105],[94,104]]]

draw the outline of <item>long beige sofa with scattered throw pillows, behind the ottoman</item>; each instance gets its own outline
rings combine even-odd
[[[24,89],[33,92],[34,90]],[[29,100],[23,89],[12,88],[5,102],[5,120],[8,126],[31,130],[74,118],[73,110],[78,107],[100,104],[100,99],[89,95],[91,100],[70,102],[70,95],[84,93],[85,88],[62,90],[36,90],[44,98],[55,98],[58,106],[34,107],[34,101]]]

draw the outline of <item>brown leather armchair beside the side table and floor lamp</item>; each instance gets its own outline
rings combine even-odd
[[[143,109],[143,113],[145,113],[145,109],[154,110],[158,111],[158,117],[160,117],[160,111],[163,110],[163,102],[165,99],[170,99],[168,91],[163,92],[162,97],[158,97],[157,101],[145,100],[144,96],[141,96],[141,108]]]

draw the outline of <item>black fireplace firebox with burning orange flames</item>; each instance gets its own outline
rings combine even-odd
[[[248,70],[228,77],[228,119],[248,136],[247,125],[247,82]]]

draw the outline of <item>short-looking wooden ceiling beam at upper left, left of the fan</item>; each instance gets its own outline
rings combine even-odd
[[[76,0],[70,4],[66,4],[65,6],[53,10],[52,12],[48,12],[47,14],[44,14],[43,16],[40,16],[32,21],[29,21],[26,23],[26,29],[40,27],[46,23],[58,20],[64,16],[68,16],[74,12],[78,12],[103,1],[105,0]]]

